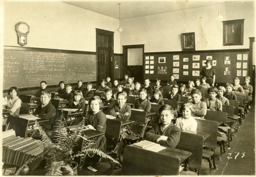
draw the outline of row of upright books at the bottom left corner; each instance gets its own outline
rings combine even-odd
[[[10,129],[3,132],[3,163],[11,166],[22,166],[30,158],[35,158],[28,164],[31,171],[36,169],[44,155],[42,141],[33,138],[20,138]]]

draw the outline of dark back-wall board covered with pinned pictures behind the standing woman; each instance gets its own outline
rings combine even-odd
[[[156,80],[156,78],[161,79],[162,81],[167,81],[170,79],[171,74],[179,74],[179,79],[177,81],[181,81],[184,83],[187,83],[188,80],[195,81],[197,78],[200,78],[200,76],[193,76],[193,71],[201,71],[203,67],[202,62],[203,60],[206,60],[207,56],[212,56],[212,60],[216,60],[216,66],[213,66],[216,71],[216,83],[227,83],[232,82],[233,78],[237,76],[237,70],[241,71],[248,71],[248,60],[237,60],[237,54],[247,54],[249,57],[249,49],[237,49],[237,50],[202,50],[202,51],[193,51],[193,52],[152,52],[152,53],[145,53],[145,58],[143,60],[144,65],[144,78],[149,78],[150,80]],[[174,60],[173,55],[179,55],[179,60]],[[194,55],[200,55],[199,60],[193,60]],[[159,57],[165,57],[164,59],[160,60],[159,63]],[[230,64],[225,64],[225,59],[228,57],[230,60]],[[153,59],[154,58],[154,59]],[[188,58],[188,62],[184,62],[184,58]],[[151,60],[150,60],[151,59]],[[147,62],[147,60],[149,62]],[[154,60],[154,62],[152,62]],[[147,64],[147,63],[149,64]],[[154,63],[154,68],[146,69],[146,66],[149,65],[153,66],[153,64],[150,64],[150,62]],[[161,63],[162,62],[162,63]],[[173,62],[179,62],[179,66],[173,66]],[[247,69],[237,69],[236,63],[241,62],[246,63]],[[199,68],[193,68],[193,64],[198,63]],[[188,69],[184,69],[184,65],[188,66]],[[224,75],[224,71],[226,70],[226,67],[229,68],[229,75]],[[159,68],[163,69],[159,73]],[[173,73],[173,68],[179,69],[179,73]],[[154,74],[147,73],[150,72]],[[152,72],[153,71],[153,72]],[[184,75],[183,71],[188,71],[188,75]],[[247,72],[248,75],[248,72]],[[241,83],[243,83],[243,76],[239,76]]]

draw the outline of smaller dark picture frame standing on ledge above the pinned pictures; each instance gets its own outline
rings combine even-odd
[[[195,32],[186,32],[181,34],[182,51],[195,50]]]

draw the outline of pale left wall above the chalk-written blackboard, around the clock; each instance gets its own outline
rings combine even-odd
[[[95,28],[114,31],[114,52],[120,53],[118,19],[60,1],[4,1],[4,45],[19,46],[15,24],[30,27],[28,47],[96,52]]]

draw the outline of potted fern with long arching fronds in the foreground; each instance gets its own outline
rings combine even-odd
[[[61,117],[56,120],[52,128],[53,131],[50,139],[42,127],[40,127],[38,122],[36,122],[36,127],[38,127],[41,139],[44,142],[45,175],[77,175],[77,163],[74,161],[74,159],[75,157],[84,157],[88,153],[97,154],[100,157],[109,159],[114,163],[119,164],[118,161],[109,155],[106,155],[104,152],[88,146],[81,150],[81,152],[75,153],[74,147],[77,146],[79,140],[81,138],[83,138],[85,141],[88,140],[82,136],[82,132],[84,131],[84,119],[76,126],[74,132],[69,134],[67,132],[67,128],[65,128],[65,125],[65,118],[63,118],[63,114],[61,114]],[[27,168],[28,163],[32,161],[33,160],[29,159],[24,166],[20,167],[16,174],[22,172],[24,167]]]

